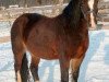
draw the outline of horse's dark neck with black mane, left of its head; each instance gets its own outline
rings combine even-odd
[[[71,0],[62,14],[66,17],[71,25],[76,26],[81,17],[80,0]]]

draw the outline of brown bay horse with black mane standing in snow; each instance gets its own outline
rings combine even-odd
[[[62,13],[48,17],[38,13],[24,13],[13,23],[11,44],[14,56],[16,82],[39,81],[38,63],[41,59],[59,59],[61,82],[77,82],[80,67],[87,51],[88,24],[90,23],[88,0],[71,0]],[[90,25],[90,24],[89,24]],[[28,68],[26,51],[32,62]]]

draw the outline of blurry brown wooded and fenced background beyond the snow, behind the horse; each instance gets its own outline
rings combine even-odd
[[[68,3],[69,1],[70,0],[0,0],[0,21],[16,19],[22,13],[29,12],[55,16],[61,12],[61,10],[66,5],[64,5],[64,3]],[[17,4],[20,8],[2,10],[2,7],[9,8],[9,5],[14,4]],[[99,20],[109,22],[109,0],[95,0],[94,8],[95,13],[99,13],[97,14],[98,17],[100,17]]]

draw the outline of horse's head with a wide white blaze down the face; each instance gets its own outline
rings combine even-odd
[[[96,27],[95,0],[82,0],[82,12],[89,27]]]

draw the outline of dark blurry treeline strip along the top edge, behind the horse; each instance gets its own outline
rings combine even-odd
[[[35,7],[57,3],[58,0],[0,0],[0,7],[9,8],[9,5],[19,4],[20,7]],[[68,2],[70,0],[64,0]]]

